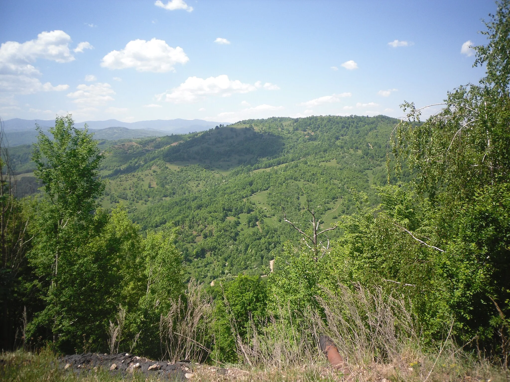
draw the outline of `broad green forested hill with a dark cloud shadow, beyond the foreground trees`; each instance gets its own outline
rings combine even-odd
[[[100,201],[106,208],[126,205],[143,229],[179,227],[176,245],[200,281],[265,274],[283,243],[298,239],[282,223],[282,206],[304,227],[310,203],[328,227],[353,212],[351,189],[374,198],[370,185],[386,182],[387,143],[397,122],[269,118],[123,142],[103,161],[109,184]]]

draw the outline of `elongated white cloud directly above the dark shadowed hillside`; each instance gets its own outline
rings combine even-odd
[[[170,93],[157,95],[158,100],[173,103],[189,103],[206,96],[215,95],[228,97],[234,93],[248,93],[257,90],[250,84],[243,84],[240,80],[228,79],[226,74],[217,77],[209,77],[206,79],[198,77],[188,77],[184,83],[171,90]]]

